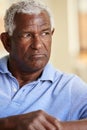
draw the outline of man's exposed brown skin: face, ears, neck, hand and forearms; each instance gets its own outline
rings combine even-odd
[[[8,68],[23,87],[36,80],[51,53],[54,29],[45,11],[40,14],[16,14],[12,36],[4,32],[1,40],[9,52]],[[87,120],[61,122],[42,110],[0,119],[1,130],[86,130]]]

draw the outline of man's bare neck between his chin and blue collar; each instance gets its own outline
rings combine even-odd
[[[42,73],[42,69],[38,71],[33,71],[33,72],[24,72],[14,66],[11,63],[8,63],[8,69],[12,73],[12,75],[17,79],[19,86],[23,87],[25,84],[37,80]]]

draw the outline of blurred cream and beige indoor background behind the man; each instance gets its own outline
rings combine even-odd
[[[4,31],[4,13],[16,1],[0,0],[0,33]],[[55,21],[50,62],[87,82],[87,0],[42,1],[51,9]],[[0,42],[0,57],[6,54]]]

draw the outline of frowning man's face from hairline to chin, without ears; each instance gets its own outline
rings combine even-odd
[[[48,14],[16,14],[10,59],[22,71],[34,72],[46,65],[51,52],[52,30]]]

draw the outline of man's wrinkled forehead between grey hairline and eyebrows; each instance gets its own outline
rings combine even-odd
[[[51,26],[50,17],[46,11],[39,14],[18,13],[14,17],[16,28],[32,28],[34,26]]]

